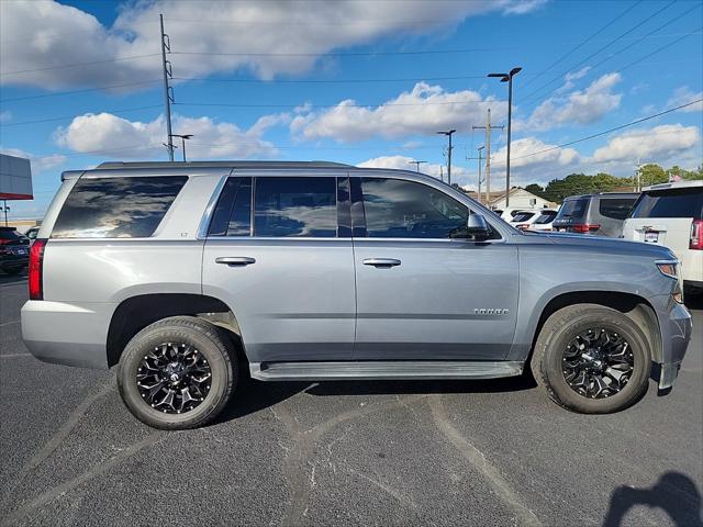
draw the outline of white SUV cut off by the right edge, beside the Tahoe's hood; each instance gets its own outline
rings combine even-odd
[[[645,188],[623,237],[669,247],[681,260],[687,289],[703,293],[703,181]]]

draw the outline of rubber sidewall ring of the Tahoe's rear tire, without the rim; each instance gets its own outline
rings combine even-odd
[[[179,325],[152,329],[147,327],[144,332],[146,334],[137,334],[125,348],[118,372],[120,392],[130,411],[141,421],[158,428],[199,426],[207,422],[213,413],[219,413],[223,399],[228,399],[234,383],[232,363],[223,356],[219,346],[198,329]],[[208,359],[212,373],[210,391],[204,401],[196,408],[182,414],[168,414],[153,408],[142,397],[136,384],[137,370],[144,356],[159,345],[175,341],[192,345],[198,349]]]

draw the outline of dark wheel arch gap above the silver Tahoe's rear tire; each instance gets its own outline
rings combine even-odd
[[[123,300],[112,314],[107,338],[108,367],[120,361],[124,347],[140,330],[161,318],[178,315],[197,316],[219,326],[238,358],[246,360],[239,324],[223,301],[204,294],[152,293]]]

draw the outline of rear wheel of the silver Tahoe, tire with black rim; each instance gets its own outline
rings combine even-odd
[[[220,415],[234,392],[238,365],[233,357],[216,326],[192,316],[164,318],[124,348],[118,367],[120,395],[137,419],[154,428],[203,426]],[[159,383],[155,395],[145,388]]]

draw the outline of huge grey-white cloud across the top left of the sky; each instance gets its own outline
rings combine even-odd
[[[114,24],[107,27],[93,15],[53,0],[2,1],[0,63],[5,72],[2,82],[54,89],[158,79],[159,13],[164,13],[172,51],[197,53],[171,56],[177,76],[198,77],[247,68],[260,78],[271,78],[278,74],[306,71],[333,49],[388,36],[446,31],[468,16],[488,12],[523,14],[544,2],[338,0],[313,3],[135,1],[123,4]],[[289,55],[267,55],[271,52]],[[156,56],[129,59],[150,54]],[[54,68],[96,60],[116,61]],[[35,71],[9,75],[25,70]]]

